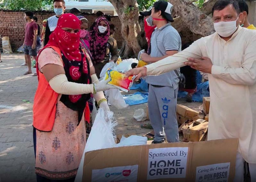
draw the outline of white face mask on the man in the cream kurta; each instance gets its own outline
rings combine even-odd
[[[238,16],[239,17],[239,16]],[[238,19],[237,17],[237,19]],[[236,21],[221,21],[218,23],[214,23],[214,29],[221,37],[229,37],[234,32],[236,32],[237,26]]]

